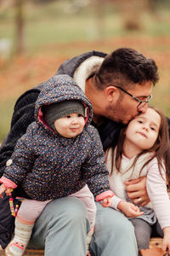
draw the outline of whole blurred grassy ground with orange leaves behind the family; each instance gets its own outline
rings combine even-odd
[[[141,29],[127,31],[123,27],[123,15],[116,5],[105,4],[99,27],[94,7],[86,6],[69,13],[69,0],[36,6],[29,1],[25,3],[25,55],[13,55],[11,59],[3,61],[0,53],[0,142],[8,132],[18,96],[54,75],[64,59],[92,49],[111,52],[119,47],[132,47],[153,57],[161,79],[153,90],[152,103],[170,116],[169,5],[168,8],[159,9],[156,17],[148,11],[139,13]],[[0,10],[0,39],[9,38],[13,50],[14,15],[14,8],[3,12]]]

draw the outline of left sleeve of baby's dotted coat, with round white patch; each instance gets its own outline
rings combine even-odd
[[[3,177],[8,178],[16,185],[21,183],[26,174],[31,172],[31,168],[37,157],[35,153],[36,139],[34,134],[37,132],[37,124],[34,122],[28,126],[26,134],[20,137],[5,168]]]

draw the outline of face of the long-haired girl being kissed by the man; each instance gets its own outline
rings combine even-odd
[[[148,108],[145,113],[130,121],[127,125],[125,148],[129,146],[137,150],[137,154],[144,149],[151,148],[159,134],[161,117],[154,109]]]

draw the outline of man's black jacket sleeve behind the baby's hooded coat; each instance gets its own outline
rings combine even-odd
[[[13,154],[16,142],[25,134],[27,126],[34,121],[35,102],[39,92],[38,89],[26,91],[14,106],[10,131],[0,148],[0,177],[3,176],[6,162]]]

